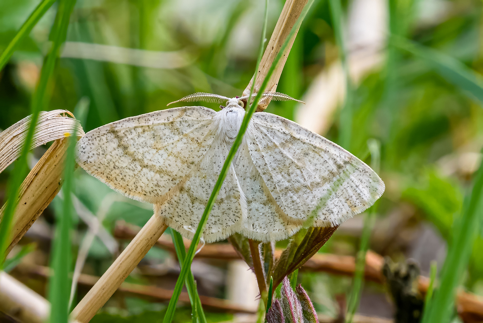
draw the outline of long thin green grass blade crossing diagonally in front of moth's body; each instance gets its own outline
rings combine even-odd
[[[296,24],[294,25],[294,27],[292,27],[292,30],[288,34],[284,44],[282,44],[282,47],[280,48],[278,55],[275,57],[272,65],[270,67],[270,70],[267,73],[267,76],[265,77],[262,85],[260,86],[260,90],[258,91],[258,93],[255,96],[254,102],[252,103],[252,105],[249,107],[249,109],[245,113],[245,117],[243,118],[243,121],[241,122],[240,131],[238,132],[238,135],[235,138],[233,145],[230,148],[230,151],[228,152],[227,159],[226,159],[225,163],[223,164],[223,167],[221,169],[218,180],[216,181],[216,183],[213,187],[213,192],[212,192],[212,194],[211,194],[211,196],[208,200],[208,203],[205,207],[205,210],[204,210],[204,212],[201,216],[201,219],[199,220],[198,228],[197,228],[197,230],[196,230],[196,232],[193,236],[193,240],[191,241],[191,245],[189,246],[189,250],[188,250],[188,253],[186,255],[185,262],[184,262],[184,264],[181,268],[180,276],[178,277],[178,280],[176,281],[176,285],[174,286],[173,295],[170,299],[168,309],[166,310],[166,314],[164,316],[163,323],[170,323],[173,319],[176,304],[178,302],[179,295],[181,294],[181,290],[183,288],[183,283],[184,283],[186,277],[188,276],[188,270],[191,266],[191,262],[193,261],[193,257],[195,255],[195,248],[199,243],[199,238],[201,236],[201,233],[204,230],[206,222],[208,221],[208,216],[209,216],[210,211],[213,207],[214,201],[216,200],[216,197],[218,196],[218,192],[220,191],[221,185],[223,184],[223,181],[225,180],[225,177],[226,177],[227,171],[228,171],[228,167],[230,166],[231,161],[233,160],[233,157],[235,157],[235,154],[238,150],[238,147],[240,147],[240,145],[241,145],[243,135],[245,134],[245,131],[248,128],[248,124],[250,122],[250,119],[256,111],[258,101],[260,100],[263,91],[267,87],[267,83],[269,82],[270,76],[272,75],[273,71],[275,70],[275,67],[276,67],[278,61],[284,55],[284,50],[287,47],[289,40],[292,39],[292,37],[295,35],[295,31],[300,26],[300,23],[302,22],[303,18],[307,14],[307,11],[309,10],[312,3],[313,3],[313,0],[310,0],[309,3],[307,3],[307,5],[305,6],[305,8],[302,11],[302,13],[300,14],[300,16],[298,17]],[[258,66],[256,68],[258,68]]]

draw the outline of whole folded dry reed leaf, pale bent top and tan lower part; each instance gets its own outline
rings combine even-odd
[[[60,190],[69,142],[65,137],[72,133],[76,122],[78,125],[77,135],[84,135],[84,131],[77,120],[71,117],[62,117],[60,114],[68,114],[73,117],[67,110],[41,112],[39,116],[32,147],[41,146],[52,140],[56,141],[28,173],[20,187],[7,254],[33,222],[39,218],[45,207],[50,204]],[[4,170],[18,158],[27,135],[29,120],[30,116],[0,133],[0,170]],[[5,205],[0,209],[0,220],[4,211]]]

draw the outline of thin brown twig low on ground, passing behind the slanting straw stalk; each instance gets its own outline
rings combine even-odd
[[[41,277],[49,277],[50,276],[50,268],[40,265],[26,265],[20,264],[18,266],[18,271],[23,274],[34,274]],[[93,286],[99,281],[99,277],[81,274],[79,276],[79,284],[85,286]],[[171,295],[173,294],[172,290],[150,286],[150,285],[140,285],[140,284],[133,284],[123,282],[119,288],[117,289],[119,292],[135,294],[138,296],[146,296],[149,298],[154,298],[156,300],[169,300]],[[199,299],[201,300],[201,304],[206,306],[207,308],[212,308],[215,310],[222,310],[229,313],[254,313],[253,309],[245,308],[236,304],[231,303],[226,299],[210,297],[210,296],[203,296],[200,295]],[[189,303],[189,295],[186,292],[182,292],[180,295],[180,301]]]

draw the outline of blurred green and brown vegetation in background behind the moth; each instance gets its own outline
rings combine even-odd
[[[270,1],[269,35],[283,2]],[[0,52],[37,4],[37,0],[0,1]],[[0,72],[1,129],[30,113],[56,5]],[[47,109],[73,111],[87,132],[124,117],[165,109],[167,103],[196,91],[240,95],[255,69],[263,5],[255,0],[77,0]],[[395,262],[412,258],[427,276],[431,260],[436,260],[438,268],[444,262],[453,223],[482,160],[482,3],[348,0],[342,7],[352,86],[345,90],[329,2],[316,0],[277,88],[307,104],[273,102],[266,111],[299,122],[366,162],[370,161],[368,140],[380,142],[380,176],[386,191],[370,249]],[[480,88],[471,88],[464,75],[470,75]],[[344,97],[350,97],[348,104]],[[78,105],[80,101],[83,104]],[[219,109],[211,103],[202,105]],[[345,114],[341,114],[342,106]],[[348,133],[348,139],[342,133]],[[34,151],[32,164],[43,151],[45,147]],[[12,169],[0,175],[2,195]],[[74,192],[91,214],[99,216],[107,205],[102,224],[108,237],[96,237],[83,270],[100,276],[127,245],[126,240],[113,238],[116,223],[124,220],[142,226],[152,211],[149,205],[113,198],[107,186],[81,169],[76,171]],[[49,264],[53,225],[61,207],[56,197],[22,239],[20,246],[35,243],[22,262]],[[82,213],[78,207],[76,212]],[[80,214],[79,218],[75,220],[74,253],[88,231]],[[354,256],[362,228],[362,216],[347,221],[320,252]],[[474,241],[462,283],[483,296],[482,248],[483,232]],[[176,258],[154,248],[127,281],[172,289],[178,272]],[[230,296],[234,292],[229,284],[235,272],[229,261],[193,263],[201,295],[233,302],[237,300]],[[19,269],[12,274],[45,295],[45,279]],[[348,277],[320,272],[300,271],[298,281],[316,309],[332,317],[337,317],[343,304],[340,295],[349,293],[351,286]],[[87,290],[79,286],[76,299]],[[256,293],[244,297],[253,299],[238,301],[250,304]],[[161,320],[158,311],[166,304],[116,293],[92,322]],[[191,320],[189,303],[185,306],[177,311],[178,322]],[[366,284],[359,312],[391,318],[394,305],[385,287]],[[210,310],[206,315],[209,322],[233,319],[233,314]]]

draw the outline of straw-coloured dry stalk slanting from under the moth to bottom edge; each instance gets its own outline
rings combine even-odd
[[[128,247],[77,304],[71,313],[71,319],[80,323],[89,322],[167,228],[164,220],[155,212]]]

